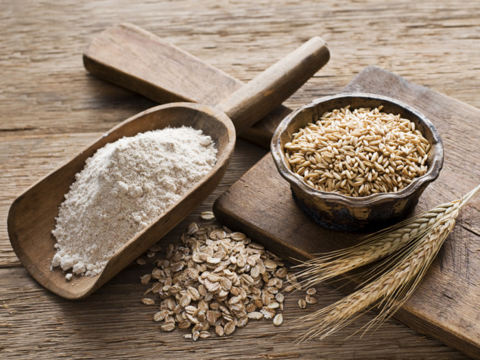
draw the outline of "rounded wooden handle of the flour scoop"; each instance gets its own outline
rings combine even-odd
[[[230,117],[241,134],[295,93],[329,58],[326,43],[315,36],[215,107]]]

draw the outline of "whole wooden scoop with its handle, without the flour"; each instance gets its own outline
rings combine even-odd
[[[44,287],[67,299],[85,298],[150,248],[210,194],[228,167],[235,147],[235,128],[241,131],[287,99],[322,64],[326,47],[312,38],[289,56],[261,73],[216,107],[191,103],[156,106],[131,117],[101,136],[67,164],[40,180],[18,197],[8,213],[8,235],[19,259]],[[231,119],[231,121],[230,121]],[[234,128],[235,124],[235,128]],[[65,272],[51,270],[56,243],[51,235],[64,194],[97,149],[123,136],[182,125],[201,129],[215,141],[217,163],[208,175],[161,215],[123,245],[101,274],[65,279]]]

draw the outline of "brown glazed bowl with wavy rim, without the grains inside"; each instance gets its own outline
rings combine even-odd
[[[428,171],[396,193],[376,193],[364,197],[350,197],[310,187],[291,171],[285,151],[293,134],[309,123],[315,123],[326,111],[344,108],[377,108],[383,112],[400,114],[415,123],[416,128],[431,143],[428,152]],[[343,93],[322,97],[292,112],[278,125],[270,146],[275,165],[290,183],[293,199],[318,224],[334,230],[355,231],[384,227],[404,217],[418,202],[424,189],[435,180],[443,166],[444,150],[440,134],[418,110],[395,99],[367,93]],[[365,229],[366,230],[366,229]]]

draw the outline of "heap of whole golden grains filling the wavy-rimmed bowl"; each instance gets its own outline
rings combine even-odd
[[[285,156],[309,186],[348,196],[395,193],[428,170],[430,143],[415,123],[379,108],[326,112],[293,134]]]

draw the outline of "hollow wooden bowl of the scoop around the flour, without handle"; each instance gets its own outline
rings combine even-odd
[[[75,173],[83,169],[85,160],[93,156],[97,149],[123,136],[135,136],[139,132],[183,125],[200,129],[215,141],[215,167],[173,204],[169,211],[160,215],[119,248],[98,276],[75,276],[68,282],[65,272],[60,268],[51,269],[51,260],[56,252],[53,248],[56,240],[51,235],[51,230],[55,228],[58,206],[75,180]],[[227,115],[217,108],[175,103],[141,112],[106,132],[69,163],[56,169],[16,198],[8,213],[8,235],[12,247],[38,283],[62,298],[85,298],[132,263],[205,200],[223,178],[234,149],[235,127]]]

